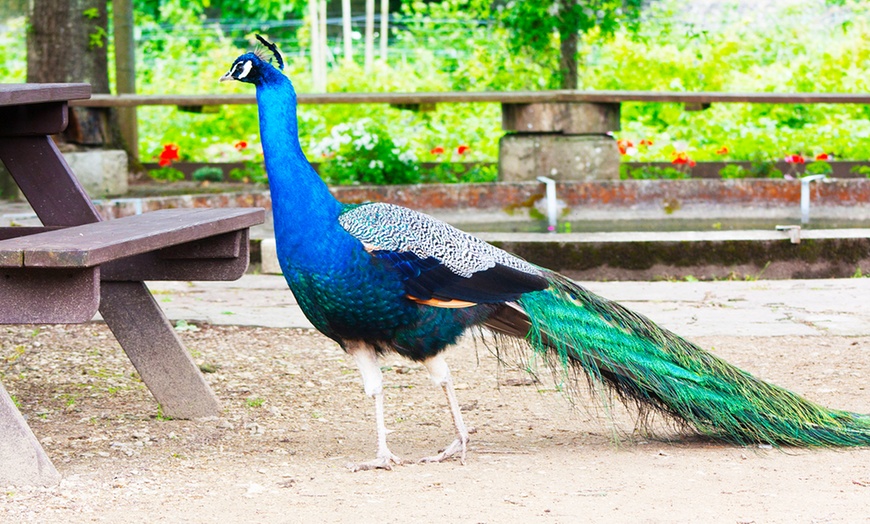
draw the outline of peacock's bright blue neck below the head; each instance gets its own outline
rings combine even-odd
[[[347,247],[345,235],[336,235],[341,203],[302,152],[293,85],[276,69],[266,73],[257,106],[278,254],[282,267],[322,263],[343,251],[337,244]]]

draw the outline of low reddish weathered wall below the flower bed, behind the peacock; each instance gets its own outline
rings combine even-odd
[[[420,184],[403,186],[335,186],[342,202],[389,202],[441,216],[471,211],[501,213],[531,207],[544,197],[544,184],[497,182],[490,184]],[[679,217],[699,208],[707,218],[720,209],[739,209],[741,216],[800,216],[800,182],[783,179],[735,180],[598,180],[563,181],[557,196],[578,216],[621,218],[654,212]],[[870,217],[870,179],[833,179],[811,186],[814,216]],[[198,195],[116,198],[95,202],[104,218],[174,207],[272,208],[268,191]]]

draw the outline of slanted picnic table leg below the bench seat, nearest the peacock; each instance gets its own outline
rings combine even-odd
[[[220,404],[143,282],[103,282],[100,314],[164,415],[217,415]]]

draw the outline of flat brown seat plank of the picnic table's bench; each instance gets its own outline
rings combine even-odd
[[[0,241],[0,265],[93,267],[261,224],[259,208],[163,209]]]

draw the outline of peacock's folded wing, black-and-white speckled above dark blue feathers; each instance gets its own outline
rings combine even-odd
[[[401,272],[408,295],[419,302],[505,302],[549,285],[536,266],[411,209],[347,206],[338,220],[372,256]]]

